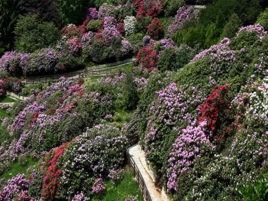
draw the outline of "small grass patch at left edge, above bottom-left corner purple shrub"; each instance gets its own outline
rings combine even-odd
[[[8,171],[5,171],[0,178],[12,178],[13,176],[16,176],[18,173],[25,173],[26,176],[28,176],[27,169],[29,166],[33,166],[37,164],[37,161],[34,161],[31,157],[27,158],[27,162],[23,165],[19,164],[18,162],[13,162],[11,164],[10,169]]]

